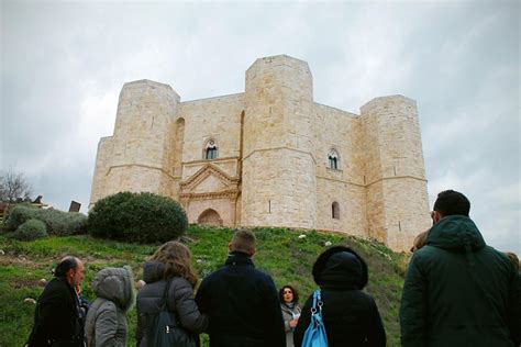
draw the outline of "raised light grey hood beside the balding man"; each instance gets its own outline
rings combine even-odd
[[[130,266],[100,270],[92,281],[92,290],[99,298],[114,302],[125,313],[135,302],[134,275]]]

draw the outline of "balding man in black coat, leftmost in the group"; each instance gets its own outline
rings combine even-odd
[[[84,264],[76,257],[65,257],[58,264],[36,304],[29,347],[84,346],[84,315],[76,293],[84,271]]]

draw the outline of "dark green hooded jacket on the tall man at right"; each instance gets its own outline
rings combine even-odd
[[[470,219],[446,216],[409,265],[402,346],[518,346],[520,296],[507,256],[485,244]]]

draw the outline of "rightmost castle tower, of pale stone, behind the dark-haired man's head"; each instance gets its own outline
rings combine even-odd
[[[362,107],[368,235],[406,250],[430,227],[415,101],[376,98]]]

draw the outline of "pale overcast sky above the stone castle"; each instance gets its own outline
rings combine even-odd
[[[181,101],[243,92],[256,58],[287,54],[308,61],[319,103],[417,100],[431,208],[462,191],[486,242],[521,254],[520,3],[1,0],[0,169],[86,212],[124,82]]]

